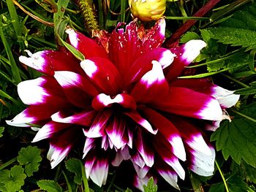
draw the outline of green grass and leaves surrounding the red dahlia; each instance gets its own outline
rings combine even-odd
[[[210,1],[210,0],[209,0]],[[126,0],[91,2],[99,28],[113,30],[119,21],[132,20]],[[107,185],[97,187],[86,180],[81,150],[75,148],[56,169],[50,169],[46,154],[48,143],[32,144],[35,132],[29,128],[7,126],[26,106],[17,94],[18,82],[39,77],[39,73],[18,61],[26,50],[56,49],[65,39],[67,25],[90,36],[89,13],[75,0],[1,0],[0,1],[0,191],[136,191],[124,181],[129,178],[110,170]],[[197,57],[182,78],[208,77],[224,88],[236,90],[241,99],[227,112],[214,133],[208,133],[217,148],[216,171],[212,177],[187,172],[179,181],[181,191],[255,191],[256,183],[256,3],[247,0],[220,1],[200,18],[190,18],[207,0],[167,1],[166,37],[184,25],[197,23],[180,39],[203,39],[208,47]],[[24,12],[18,5],[26,11]],[[90,5],[90,4],[89,4]],[[62,9],[61,9],[62,7]],[[32,18],[32,17],[34,18]],[[152,23],[147,23],[151,26]],[[167,38],[166,46],[173,46]],[[170,185],[155,186],[152,180],[145,191],[176,191]]]

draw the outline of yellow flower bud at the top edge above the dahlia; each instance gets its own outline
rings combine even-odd
[[[132,15],[143,21],[159,20],[165,13],[166,0],[129,0]]]

